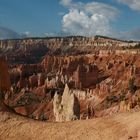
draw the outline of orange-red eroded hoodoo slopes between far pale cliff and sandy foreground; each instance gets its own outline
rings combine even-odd
[[[140,106],[139,61],[139,55],[127,53],[46,56],[40,64],[9,69],[12,90],[4,102],[21,115],[48,121],[130,111]],[[70,117],[75,99],[80,116]]]

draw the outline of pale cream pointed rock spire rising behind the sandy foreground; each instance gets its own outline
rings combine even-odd
[[[57,122],[71,121],[80,118],[79,102],[68,85],[65,85],[63,95],[55,94],[53,110]]]

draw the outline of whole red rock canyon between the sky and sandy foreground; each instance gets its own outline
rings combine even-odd
[[[82,125],[81,120],[86,126],[100,119],[103,123],[104,118],[110,120],[113,116],[124,120],[125,114],[137,119],[138,45],[136,41],[101,36],[1,40],[1,116],[10,112],[14,114],[12,119],[25,117],[23,121],[33,124],[35,120],[68,121],[74,126],[78,121]],[[109,124],[115,126],[113,120]]]

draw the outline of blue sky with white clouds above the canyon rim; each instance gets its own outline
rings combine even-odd
[[[140,0],[0,0],[0,37],[9,34],[140,40]]]

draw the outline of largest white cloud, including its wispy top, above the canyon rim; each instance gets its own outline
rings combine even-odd
[[[64,2],[65,1],[65,2]],[[99,2],[72,2],[61,0],[69,9],[63,16],[62,30],[70,35],[93,36],[96,34],[112,36],[111,22],[117,18],[119,11]]]

